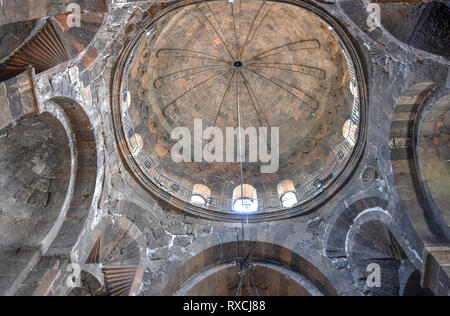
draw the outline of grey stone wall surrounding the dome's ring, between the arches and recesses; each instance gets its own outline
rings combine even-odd
[[[132,12],[131,7],[126,10],[123,9],[123,11],[114,11],[107,25],[118,25],[120,23],[112,21],[122,21],[123,23],[127,20],[127,16],[131,16],[132,20],[137,19],[141,14],[139,10],[136,11],[135,15],[131,15]],[[334,13],[342,21],[348,21],[345,15],[339,12]],[[130,24],[129,27],[124,27],[122,30],[133,32],[133,26],[133,24]],[[346,259],[326,259],[319,253],[324,249],[327,231],[331,230],[334,225],[334,215],[346,209],[355,201],[369,197],[389,201],[388,205],[382,205],[393,218],[389,227],[412,266],[421,269],[423,264],[423,258],[420,255],[421,243],[399,204],[392,178],[388,145],[390,118],[398,98],[414,81],[420,82],[428,79],[435,82],[444,82],[447,71],[442,70],[439,63],[433,58],[425,58],[421,63],[416,63],[409,55],[410,53],[396,46],[388,35],[380,39],[383,42],[380,45],[361,31],[357,31],[351,23],[348,22],[347,26],[354,32],[354,36],[360,43],[362,54],[365,56],[369,67],[370,78],[368,145],[364,158],[353,173],[354,181],[346,183],[339,194],[322,206],[321,211],[290,220],[289,223],[282,221],[260,224],[257,227],[250,225],[251,228],[248,228],[247,236],[252,236],[248,238],[256,241],[270,240],[272,244],[299,243],[302,245],[300,249],[310,249],[309,252],[311,253],[309,256],[305,255],[305,253],[308,253],[305,250],[305,253],[302,252],[301,255],[320,261],[314,262],[319,270],[329,269],[329,271],[334,271],[336,269],[340,272],[335,274],[343,275],[343,279],[353,280]],[[108,29],[109,26],[104,31]],[[125,35],[125,33],[116,34]],[[85,83],[92,82],[91,84],[96,87],[91,89],[94,94],[93,100],[104,113],[103,115],[110,111],[108,89],[103,87],[110,78],[111,65],[113,65],[115,56],[120,51],[120,36],[116,37],[117,41],[112,46],[105,47],[108,55],[101,56],[92,65],[89,70],[89,80],[85,81]],[[394,57],[396,54],[401,56],[400,59],[398,56]],[[99,77],[95,70],[100,69],[104,71],[102,76]],[[104,192],[107,193],[104,194],[105,204],[102,210],[107,213],[126,215],[138,225],[146,236],[149,264],[144,274],[141,294],[160,295],[169,293],[164,291],[167,291],[165,284],[172,284],[171,275],[179,273],[179,269],[189,259],[195,258],[196,253],[202,253],[210,248],[213,249],[214,244],[219,242],[224,244],[225,241],[228,241],[233,244],[240,225],[199,220],[180,214],[170,205],[157,201],[155,196],[149,195],[135,182],[123,165],[121,158],[117,156],[111,121],[103,122],[102,127],[105,129],[106,150],[108,152],[105,174],[106,187],[104,189]],[[369,166],[374,166],[377,173],[372,181],[367,180],[366,177],[364,177],[364,180],[361,178],[363,171]],[[370,206],[369,202],[366,207]],[[361,211],[364,211],[364,208]],[[93,244],[93,240],[90,243]],[[235,246],[233,246],[233,249],[235,249]],[[254,249],[257,249],[257,247]],[[87,252],[88,250],[86,250]],[[231,258],[233,258],[233,255],[230,255],[228,260]],[[314,260],[311,259],[311,261]],[[197,272],[200,271],[199,268]],[[339,281],[333,277],[329,277],[328,280],[333,285],[339,284]],[[171,286],[171,291],[175,291],[182,284]],[[349,286],[342,291],[342,294],[357,293],[358,291],[360,290]]]

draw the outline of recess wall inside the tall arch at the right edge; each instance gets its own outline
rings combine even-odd
[[[442,96],[445,94],[445,96]],[[450,287],[450,94],[438,90],[419,112],[414,128],[415,162],[421,191],[445,239],[426,245],[423,286],[436,295]]]

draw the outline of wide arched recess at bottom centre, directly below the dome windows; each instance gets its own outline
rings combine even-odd
[[[289,289],[279,288],[280,282],[289,279],[288,282],[292,285],[291,293],[295,294],[358,295],[353,284],[347,283],[331,263],[321,260],[318,253],[312,254],[310,250],[303,249],[301,246],[295,247],[296,250],[293,250],[274,243],[259,241],[247,241],[247,247],[251,249],[253,261],[257,266],[256,273],[260,276],[260,279],[255,278],[255,283],[262,292],[272,291],[271,293],[274,294],[285,294],[284,290],[289,291]],[[209,284],[208,282],[214,282],[214,278],[223,277],[223,273],[236,272],[233,267],[238,256],[236,242],[216,244],[193,257],[192,253],[189,253],[191,257],[182,264],[179,261],[182,258],[179,258],[169,265],[168,273],[164,276],[166,283],[158,295],[231,294],[234,286],[231,283],[227,288],[221,288],[223,285],[218,285],[218,290],[214,290],[212,287],[208,291],[202,287]],[[263,274],[263,271],[269,272],[269,274]],[[215,276],[211,277],[211,275]],[[275,282],[274,284],[269,282],[270,278]],[[232,278],[229,280],[233,281]],[[269,290],[267,288],[269,286],[273,288]],[[213,291],[216,292],[213,293]]]

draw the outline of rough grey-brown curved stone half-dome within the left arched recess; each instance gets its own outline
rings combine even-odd
[[[1,137],[1,244],[38,246],[64,203],[71,169],[65,131],[50,115],[26,118]]]

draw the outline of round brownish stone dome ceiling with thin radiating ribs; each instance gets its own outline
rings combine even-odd
[[[241,183],[239,163],[176,163],[171,150],[178,139],[172,132],[187,127],[194,135],[197,119],[203,129],[218,127],[223,135],[239,125],[268,127],[270,139],[270,128],[278,127],[278,171],[261,173],[267,164],[249,163],[247,156],[245,183],[256,188],[258,198],[279,204],[277,185],[291,180],[299,202],[305,201],[342,172],[357,143],[355,72],[335,29],[300,6],[269,1],[179,6],[136,42],[124,69],[121,120],[127,146],[150,181],[169,191],[175,186],[175,193],[187,191],[180,193],[187,200],[195,184],[206,185],[212,199],[221,200],[215,208],[223,210]]]

